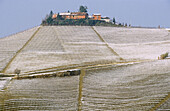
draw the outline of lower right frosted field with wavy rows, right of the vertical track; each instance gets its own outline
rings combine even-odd
[[[83,111],[150,111],[170,92],[169,65],[170,60],[162,60],[87,72]],[[166,111],[168,104],[159,109]]]

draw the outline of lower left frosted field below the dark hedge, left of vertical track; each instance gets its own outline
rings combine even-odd
[[[70,82],[70,79],[74,81]],[[78,76],[16,80],[7,90],[8,99],[5,99],[3,108],[0,104],[0,110],[75,111],[78,103],[78,85]]]

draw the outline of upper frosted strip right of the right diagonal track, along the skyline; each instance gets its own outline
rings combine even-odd
[[[108,43],[130,44],[170,40],[165,29],[95,27]]]

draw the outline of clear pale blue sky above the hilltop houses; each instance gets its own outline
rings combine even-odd
[[[80,5],[89,15],[100,13],[120,23],[170,28],[170,0],[0,0],[0,38],[39,26],[51,10],[75,12]]]

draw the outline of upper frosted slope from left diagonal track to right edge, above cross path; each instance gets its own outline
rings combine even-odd
[[[109,47],[124,60],[157,59],[170,52],[170,32],[165,29],[42,26],[9,66],[25,71],[74,64],[120,62]],[[104,40],[104,41],[103,41]]]

